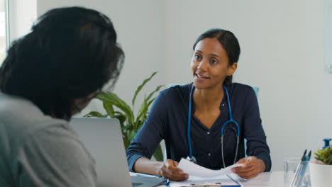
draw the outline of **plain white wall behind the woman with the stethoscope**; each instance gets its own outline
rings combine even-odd
[[[209,28],[233,31],[241,46],[235,81],[260,87],[262,123],[272,170],[282,160],[332,137],[332,77],[323,71],[323,0],[38,0],[50,8],[81,5],[106,13],[126,52],[116,93],[130,102],[136,86],[187,83],[192,44]],[[87,111],[100,107],[92,103]],[[101,110],[102,111],[102,110]]]

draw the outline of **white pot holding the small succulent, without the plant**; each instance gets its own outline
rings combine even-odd
[[[332,165],[309,163],[311,187],[332,186]]]

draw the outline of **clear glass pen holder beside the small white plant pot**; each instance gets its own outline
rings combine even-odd
[[[289,158],[284,159],[284,186],[289,187],[294,178],[294,174],[297,171],[297,167],[300,163],[300,158]],[[309,161],[301,162],[301,164],[305,165],[305,169],[299,174],[297,180],[298,186],[311,186],[310,182],[310,172],[309,172]]]

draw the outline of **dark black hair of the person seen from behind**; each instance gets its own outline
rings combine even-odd
[[[114,86],[123,60],[116,31],[104,14],[55,8],[13,42],[0,67],[0,89],[27,98],[45,115],[69,120],[76,99],[88,103],[104,84]]]

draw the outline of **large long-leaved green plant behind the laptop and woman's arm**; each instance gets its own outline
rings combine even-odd
[[[119,98],[116,94],[111,92],[100,91],[95,98],[103,102],[106,114],[101,114],[99,112],[92,111],[87,115],[84,115],[84,117],[117,118],[121,124],[123,142],[125,148],[127,149],[131,141],[135,137],[136,133],[143,125],[145,119],[148,117],[148,109],[150,105],[153,103],[153,101],[155,101],[155,97],[153,96],[163,86],[163,85],[157,86],[155,90],[152,91],[148,96],[145,95],[143,98],[143,103],[140,105],[140,110],[138,111],[137,115],[134,115],[135,100],[136,97],[138,96],[138,93],[140,93],[140,91],[143,89],[143,86],[145,86],[145,84],[147,84],[148,81],[150,81],[150,79],[152,79],[155,76],[155,74],[157,74],[157,72],[153,72],[153,74],[148,79],[145,79],[143,83],[137,87],[135,94],[133,95],[132,107],[130,107],[125,101]],[[160,145],[158,145],[157,149],[155,150],[153,157],[155,157],[157,161],[163,160],[162,149]]]

